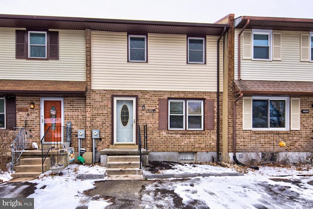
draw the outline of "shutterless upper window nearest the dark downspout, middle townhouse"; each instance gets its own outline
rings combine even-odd
[[[205,39],[188,37],[188,63],[205,63]]]

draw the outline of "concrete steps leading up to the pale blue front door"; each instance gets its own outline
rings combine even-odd
[[[140,156],[138,155],[118,155],[108,156],[107,169],[108,175],[140,175]]]

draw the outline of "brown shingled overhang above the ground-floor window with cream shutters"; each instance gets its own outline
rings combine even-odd
[[[313,95],[313,82],[290,81],[234,81],[236,95]]]

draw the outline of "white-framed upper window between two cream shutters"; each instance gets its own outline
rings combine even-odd
[[[271,30],[252,30],[253,59],[271,60]]]

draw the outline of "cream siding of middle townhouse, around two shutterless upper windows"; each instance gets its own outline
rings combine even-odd
[[[216,92],[218,37],[206,37],[206,64],[187,64],[186,35],[148,34],[148,63],[127,62],[127,33],[91,32],[92,89]],[[220,89],[223,41],[220,42]]]

